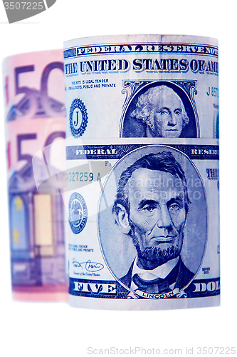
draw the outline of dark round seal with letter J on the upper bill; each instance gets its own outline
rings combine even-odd
[[[80,99],[74,99],[69,113],[70,131],[75,138],[82,136],[88,125],[88,112]]]

